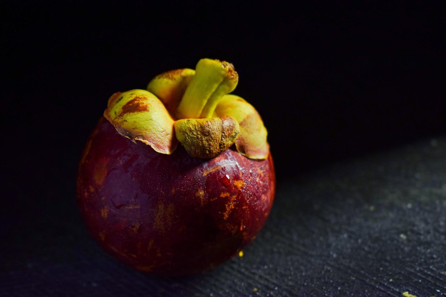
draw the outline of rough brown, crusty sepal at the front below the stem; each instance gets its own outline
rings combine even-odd
[[[192,157],[212,158],[234,144],[240,127],[235,118],[186,118],[175,122],[178,141]]]

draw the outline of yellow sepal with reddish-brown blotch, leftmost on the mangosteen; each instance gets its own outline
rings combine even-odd
[[[122,136],[144,142],[159,153],[169,155],[177,147],[173,118],[162,102],[146,90],[113,94],[104,117]]]

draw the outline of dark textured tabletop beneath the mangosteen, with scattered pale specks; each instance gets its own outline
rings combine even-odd
[[[8,233],[0,295],[446,296],[446,138],[282,181],[244,256],[194,277],[117,263],[87,233],[74,180],[40,195],[62,189],[73,192]]]

